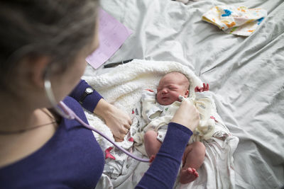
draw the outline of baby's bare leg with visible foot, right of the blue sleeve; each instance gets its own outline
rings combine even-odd
[[[186,184],[198,177],[197,169],[203,164],[205,146],[202,142],[193,142],[185,149],[182,156],[182,170],[180,171],[180,183]]]

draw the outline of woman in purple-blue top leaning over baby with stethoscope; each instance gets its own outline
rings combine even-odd
[[[84,122],[82,106],[102,116],[117,141],[128,132],[129,115],[96,91],[88,95],[89,85],[80,81],[85,57],[99,45],[98,7],[91,0],[0,2],[1,187],[94,188],[99,181],[102,150],[90,130],[55,113],[46,96],[51,90],[56,103],[63,100]],[[197,110],[184,101],[137,188],[173,188],[198,122]]]

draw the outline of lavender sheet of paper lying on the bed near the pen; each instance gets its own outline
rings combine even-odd
[[[86,58],[97,69],[119,50],[132,31],[106,11],[99,10],[99,48]]]

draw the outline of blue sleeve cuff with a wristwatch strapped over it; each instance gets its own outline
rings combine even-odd
[[[81,96],[84,93],[84,90],[87,87],[91,87],[91,86],[89,86],[89,84],[87,84],[86,81],[81,79],[79,84],[77,84],[77,86],[73,89],[73,91],[70,93],[69,96],[71,96],[72,98],[75,98],[75,100],[79,102]],[[92,94],[84,98],[82,106],[85,109],[89,110],[90,112],[94,112],[94,108],[96,108],[97,103],[99,103],[99,100],[101,100],[101,98],[102,96],[97,91],[94,91]]]

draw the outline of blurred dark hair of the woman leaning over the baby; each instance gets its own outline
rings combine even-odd
[[[94,38],[98,6],[98,0],[0,1],[1,91],[23,57],[48,56],[61,71],[72,64]]]

